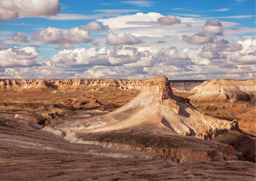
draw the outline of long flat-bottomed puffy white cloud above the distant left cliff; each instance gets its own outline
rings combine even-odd
[[[123,65],[143,61],[142,58],[151,58],[148,51],[138,51],[133,47],[110,48],[76,48],[74,50],[59,51],[50,63],[57,66],[92,66],[92,65]]]

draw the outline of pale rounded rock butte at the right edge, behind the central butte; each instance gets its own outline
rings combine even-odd
[[[194,87],[190,99],[196,101],[248,101],[256,92],[255,80],[215,79]]]

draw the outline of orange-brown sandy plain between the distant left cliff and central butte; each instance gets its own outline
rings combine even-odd
[[[91,87],[78,91],[0,91],[1,111],[58,112],[59,115],[88,110],[113,111],[139,94],[136,90]]]

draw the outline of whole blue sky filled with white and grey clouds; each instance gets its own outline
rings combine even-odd
[[[255,78],[255,1],[0,1],[0,78],[156,75]]]

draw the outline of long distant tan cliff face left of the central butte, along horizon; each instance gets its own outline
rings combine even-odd
[[[0,90],[77,90],[86,89],[89,86],[109,86],[120,89],[140,89],[140,80],[121,79],[52,79],[52,80],[0,80]]]

